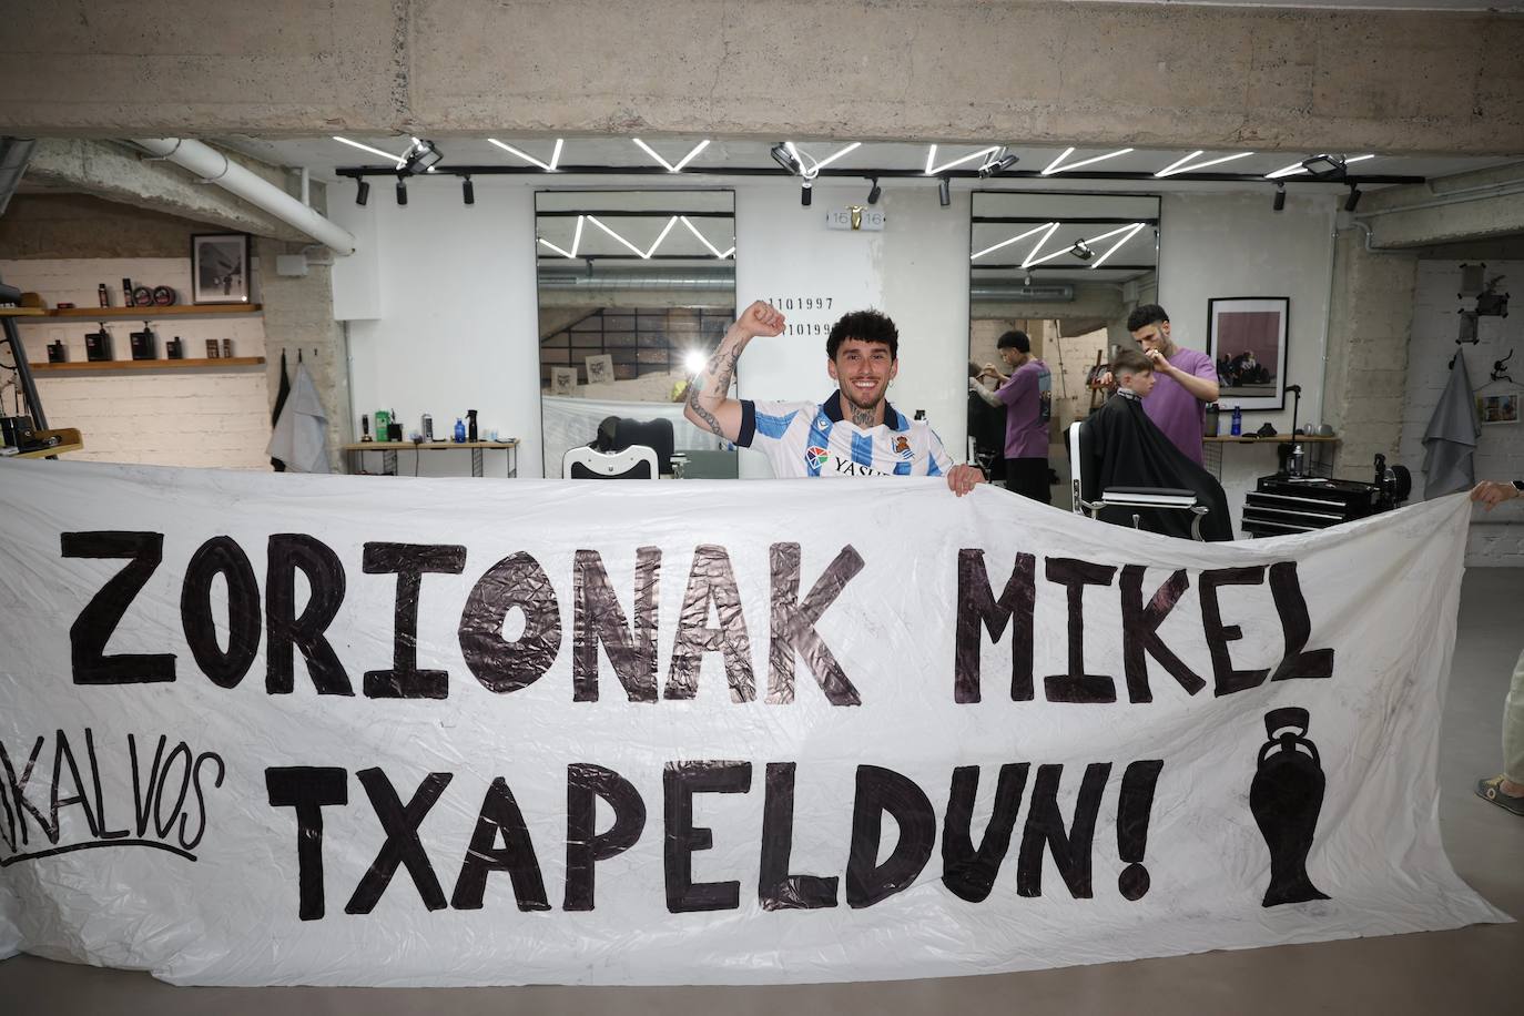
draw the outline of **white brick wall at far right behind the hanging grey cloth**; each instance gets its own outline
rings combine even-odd
[[[1402,463],[1413,469],[1414,498],[1423,495],[1423,431],[1439,398],[1449,382],[1449,358],[1465,350],[1472,388],[1481,395],[1524,390],[1524,262],[1489,262],[1487,277],[1506,276],[1500,289],[1513,292],[1509,317],[1483,317],[1477,321],[1477,346],[1457,346],[1462,308],[1472,300],[1457,300],[1460,291],[1457,260],[1420,260],[1413,305],[1413,338],[1408,344],[1407,399],[1402,416]],[[1507,369],[1521,384],[1489,384],[1492,363],[1516,350]],[[1524,423],[1481,428],[1472,458],[1477,480],[1524,480]],[[1468,567],[1524,567],[1524,512],[1509,503],[1490,513],[1475,512],[1466,545]]]

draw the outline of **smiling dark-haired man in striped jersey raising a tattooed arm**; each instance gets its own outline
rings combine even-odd
[[[952,465],[925,420],[905,419],[885,399],[899,373],[899,332],[878,311],[855,311],[832,326],[826,370],[840,388],[824,402],[728,398],[747,343],[782,331],[783,315],[771,305],[757,300],[748,306],[689,385],[683,416],[764,452],[780,478],[946,477],[959,497],[985,480],[977,466]]]

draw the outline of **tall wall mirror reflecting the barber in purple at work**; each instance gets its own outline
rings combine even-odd
[[[1023,331],[1053,375],[1050,443],[1100,405],[1097,366],[1131,344],[1128,312],[1158,300],[1157,195],[977,190],[969,247],[969,373],[1009,373],[995,349]],[[994,384],[986,375],[986,381]],[[1004,411],[969,395],[971,454],[1000,475]],[[1052,449],[1062,474],[1067,457]],[[1055,498],[1055,503],[1061,503]]]

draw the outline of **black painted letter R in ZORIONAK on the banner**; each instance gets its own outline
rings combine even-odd
[[[265,576],[265,692],[291,695],[300,649],[319,695],[354,695],[344,664],[323,634],[344,602],[344,565],[322,541],[305,533],[271,533]],[[309,596],[296,615],[296,573]]]

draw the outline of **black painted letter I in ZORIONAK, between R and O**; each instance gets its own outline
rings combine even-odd
[[[366,670],[369,699],[443,699],[450,696],[447,670],[418,669],[418,599],[425,574],[460,574],[466,548],[456,544],[366,544],[366,574],[396,574],[392,669]]]

